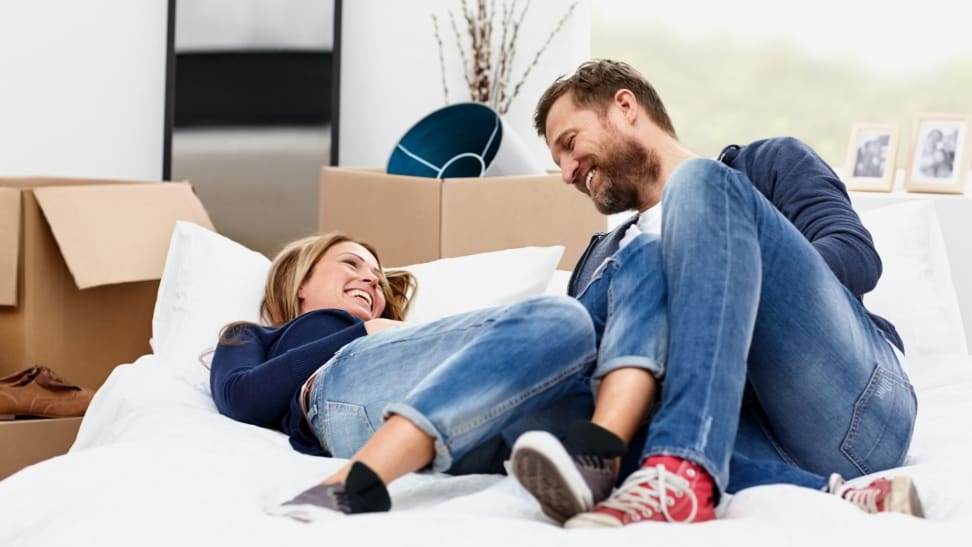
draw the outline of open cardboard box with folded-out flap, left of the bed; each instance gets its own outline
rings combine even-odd
[[[188,183],[0,178],[0,376],[96,389],[149,353],[177,220],[213,228]]]

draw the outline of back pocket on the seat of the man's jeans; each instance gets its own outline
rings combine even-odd
[[[901,465],[911,443],[915,411],[911,385],[875,366],[854,405],[841,451],[863,474]]]

